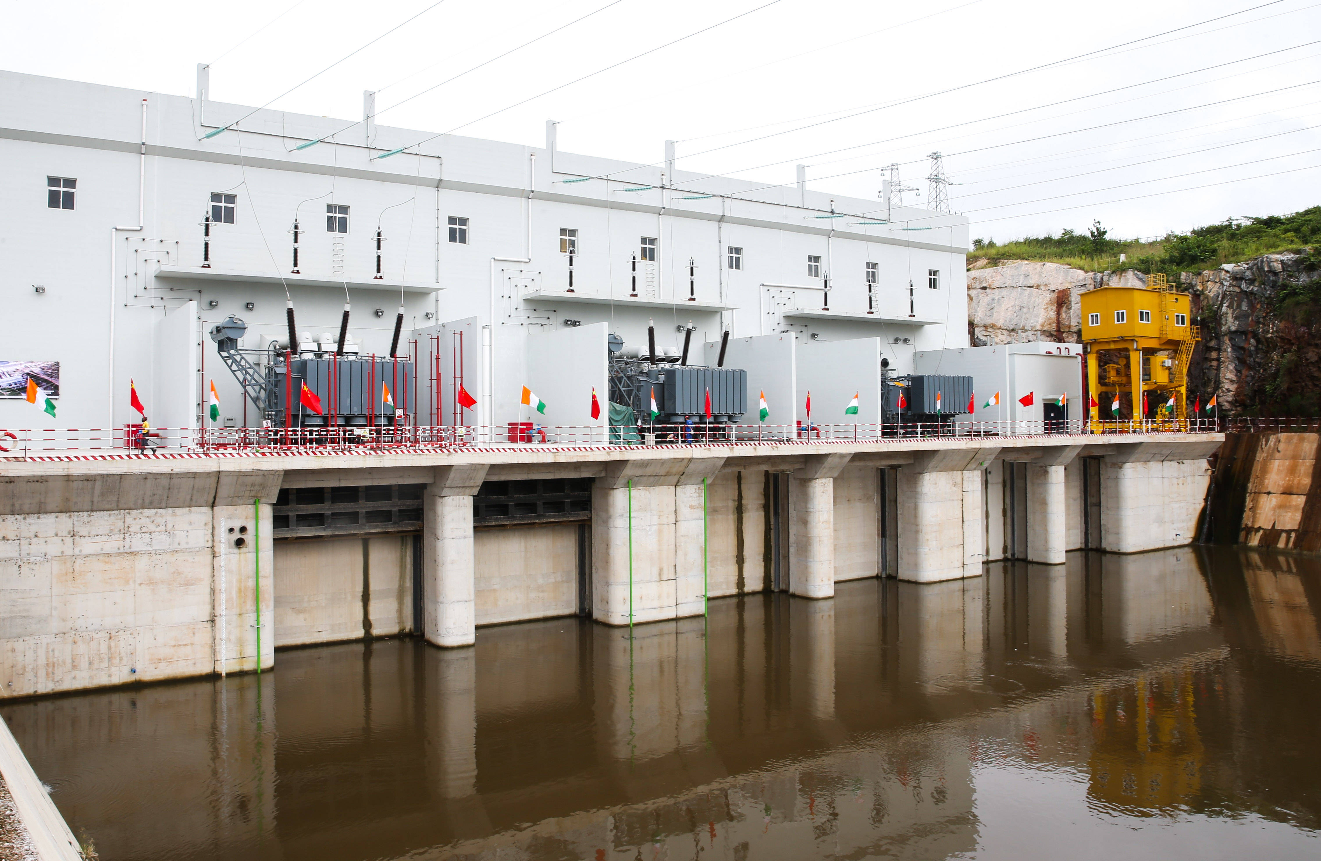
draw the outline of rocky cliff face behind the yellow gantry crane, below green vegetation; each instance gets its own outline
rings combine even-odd
[[[1312,258],[1266,255],[1184,273],[1202,343],[1193,351],[1192,392],[1214,392],[1222,416],[1317,415],[1321,409],[1321,272]],[[1018,261],[968,272],[974,346],[1077,342],[1079,296],[1098,287],[1140,287],[1140,272],[1083,272]]]

